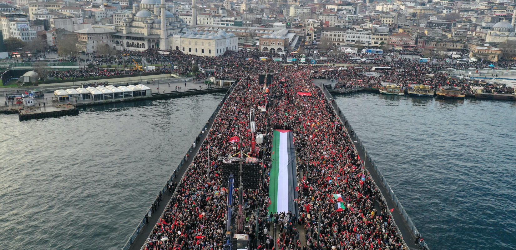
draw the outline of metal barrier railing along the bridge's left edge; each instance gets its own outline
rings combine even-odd
[[[226,99],[228,99],[229,95],[231,94],[231,92],[233,91],[233,89],[235,88],[235,86],[238,84],[238,81],[239,79],[237,79],[233,85],[229,88],[228,92],[225,93],[224,97],[222,97],[222,101],[220,101],[219,105],[217,106],[217,108],[215,109],[215,111],[213,111],[212,113],[212,116],[210,116],[210,118],[208,119],[208,121],[206,122],[206,125],[204,125],[204,127],[202,128],[201,132],[199,133],[199,136],[202,136],[202,131],[206,131],[208,126],[209,126],[209,123],[213,122],[218,114],[218,112],[220,111],[220,109],[222,108],[222,106],[224,105]],[[206,131],[208,132],[208,131]],[[201,148],[202,144],[204,143],[204,141],[199,145],[199,149]],[[189,154],[192,152],[192,150],[194,149],[195,147],[193,147],[193,145],[190,146],[190,148],[188,148],[188,151],[186,152],[185,156],[183,156],[183,159],[181,160],[181,163],[179,163],[178,167],[174,170],[175,172],[179,172],[179,170],[181,169],[181,167],[185,164],[185,162],[188,161],[188,158],[187,158],[187,155],[188,157],[193,157],[193,156],[190,156]],[[170,176],[170,178],[167,180],[167,182],[172,182],[172,180],[174,179],[174,175],[172,174]],[[179,182],[181,183],[181,181]],[[179,184],[178,184],[178,187],[179,187]],[[162,192],[162,194],[165,194],[165,191],[167,190],[167,184],[165,184],[165,186],[162,188],[162,190],[160,190]],[[176,187],[177,188],[177,187]],[[167,204],[168,205],[168,204]],[[152,208],[152,205],[151,205],[151,208]],[[147,212],[145,214],[148,214],[149,211],[151,211],[151,208],[147,209]],[[164,210],[164,212],[166,211],[166,208]],[[131,245],[133,244],[133,241],[136,239],[136,237],[138,236],[140,230],[143,228],[143,226],[145,225],[145,214],[143,215],[140,223],[138,224],[138,226],[136,227],[136,229],[133,231],[133,233],[131,234],[131,236],[129,237],[129,239],[127,239],[127,241],[125,242],[125,245],[122,247],[122,250],[128,250]],[[163,213],[162,215],[163,216]],[[161,218],[161,217],[160,217]]]

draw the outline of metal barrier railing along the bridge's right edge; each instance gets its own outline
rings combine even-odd
[[[322,88],[322,86],[319,86],[322,90],[322,92],[324,93],[325,97],[327,98],[327,101],[330,102],[330,99],[333,100],[333,98],[331,97],[331,94],[330,92],[326,89],[326,88]],[[357,141],[357,144],[360,146],[360,148],[362,148],[362,150],[364,151],[365,153],[365,158],[369,160],[369,162],[371,163],[371,165],[373,166],[373,169],[374,171],[376,172],[376,174],[380,177],[381,181],[383,182],[383,185],[385,186],[385,188],[389,191],[389,196],[390,198],[392,199],[392,201],[394,201],[394,204],[396,204],[396,207],[401,211],[401,215],[403,217],[403,219],[405,220],[405,222],[407,223],[408,227],[410,228],[412,234],[414,235],[414,238],[417,234],[419,234],[419,231],[417,231],[417,228],[416,226],[414,225],[414,223],[412,222],[412,220],[410,219],[410,216],[408,215],[407,211],[405,210],[405,208],[401,205],[401,202],[399,201],[398,197],[396,196],[396,194],[394,194],[394,191],[392,190],[391,186],[389,185],[389,183],[387,182],[387,180],[385,179],[385,177],[383,176],[383,174],[381,173],[380,169],[378,169],[378,167],[376,166],[376,163],[375,161],[373,160],[373,158],[370,157],[369,153],[367,152],[367,149],[365,148],[365,146],[362,144],[362,141],[360,141],[356,131],[353,129],[353,126],[351,126],[351,124],[348,122],[348,120],[346,119],[346,116],[344,115],[344,113],[342,112],[342,110],[337,106],[337,104],[335,102],[330,102],[332,107],[334,108],[335,110],[335,114],[341,119],[341,121],[344,121],[344,126],[348,126],[349,127],[349,131],[355,141]],[[351,138],[349,138],[350,140],[352,140]],[[365,168],[365,159],[364,159],[364,168]],[[369,174],[370,175],[370,174]],[[371,177],[371,176],[370,176]],[[379,185],[379,184],[377,184]],[[379,192],[380,195],[382,196],[383,200],[386,201],[385,197],[383,196],[383,194],[381,192]],[[387,206],[387,204],[385,204]],[[388,207],[388,206],[387,206]],[[393,220],[394,224],[396,225],[396,222]],[[396,230],[398,230],[398,234],[401,236],[401,232],[399,231],[398,227],[396,226]],[[405,239],[403,239],[404,243],[407,245],[407,243],[405,242]],[[425,249],[429,250],[428,248],[428,245],[426,244],[426,242],[423,240],[423,244],[425,246]]]

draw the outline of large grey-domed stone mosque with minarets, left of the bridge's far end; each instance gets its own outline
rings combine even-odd
[[[192,0],[193,19],[196,17]],[[188,26],[165,0],[142,0],[133,11],[114,13],[116,31],[111,34],[112,47],[119,50],[144,51],[147,48],[177,49],[185,54],[218,56],[238,50],[238,37],[224,29]]]

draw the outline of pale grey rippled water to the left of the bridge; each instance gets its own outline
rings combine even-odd
[[[222,96],[0,114],[0,249],[120,249]]]

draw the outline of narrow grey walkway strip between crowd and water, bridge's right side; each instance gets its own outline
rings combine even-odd
[[[394,223],[396,224],[398,233],[402,236],[403,241],[411,250],[419,249],[419,246],[414,244],[414,242],[416,242],[416,235],[419,234],[419,232],[410,219],[410,216],[407,214],[407,211],[405,211],[405,208],[403,208],[401,205],[399,199],[396,197],[396,194],[394,194],[394,191],[389,186],[387,180],[381,171],[377,168],[374,160],[367,153],[367,149],[358,138],[356,131],[353,130],[353,127],[346,119],[344,112],[335,102],[333,102],[330,91],[321,85],[319,85],[319,87],[324,92],[327,101],[331,103],[331,106],[335,113],[338,115],[340,122],[346,128],[349,139],[353,142],[354,148],[357,150],[358,155],[363,162],[364,168],[368,171],[371,179],[374,181],[375,186],[380,191],[383,201],[387,205],[388,209],[394,208],[394,211],[391,212],[391,216]],[[428,249],[428,246],[426,246],[426,248]]]

